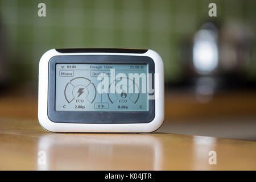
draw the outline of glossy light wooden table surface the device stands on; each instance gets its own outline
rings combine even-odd
[[[216,165],[209,151],[216,151]],[[0,118],[0,169],[255,170],[256,142],[158,132],[55,134],[36,119]]]

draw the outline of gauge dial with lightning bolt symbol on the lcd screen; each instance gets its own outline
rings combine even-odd
[[[96,98],[95,85],[85,77],[73,78],[64,89],[65,99],[70,104],[75,98],[85,98],[92,103]]]

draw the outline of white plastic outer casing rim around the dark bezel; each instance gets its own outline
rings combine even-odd
[[[148,56],[155,63],[155,118],[149,123],[60,123],[48,118],[48,63],[53,56],[65,55],[120,55]],[[164,67],[163,60],[155,51],[148,49],[145,53],[106,53],[81,52],[60,53],[51,49],[44,53],[39,62],[38,82],[38,120],[40,125],[51,132],[60,133],[150,133],[159,129],[164,120]]]

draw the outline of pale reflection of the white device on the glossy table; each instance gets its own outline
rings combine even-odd
[[[46,163],[38,163],[39,170],[162,169],[162,142],[154,135],[48,134],[39,139],[40,151]]]

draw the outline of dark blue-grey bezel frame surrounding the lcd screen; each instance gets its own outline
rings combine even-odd
[[[149,123],[155,118],[155,100],[148,100],[148,111],[56,111],[56,64],[147,64],[154,89],[154,61],[147,56],[65,55],[53,56],[48,65],[48,118],[58,123]],[[149,84],[148,84],[149,85]]]

